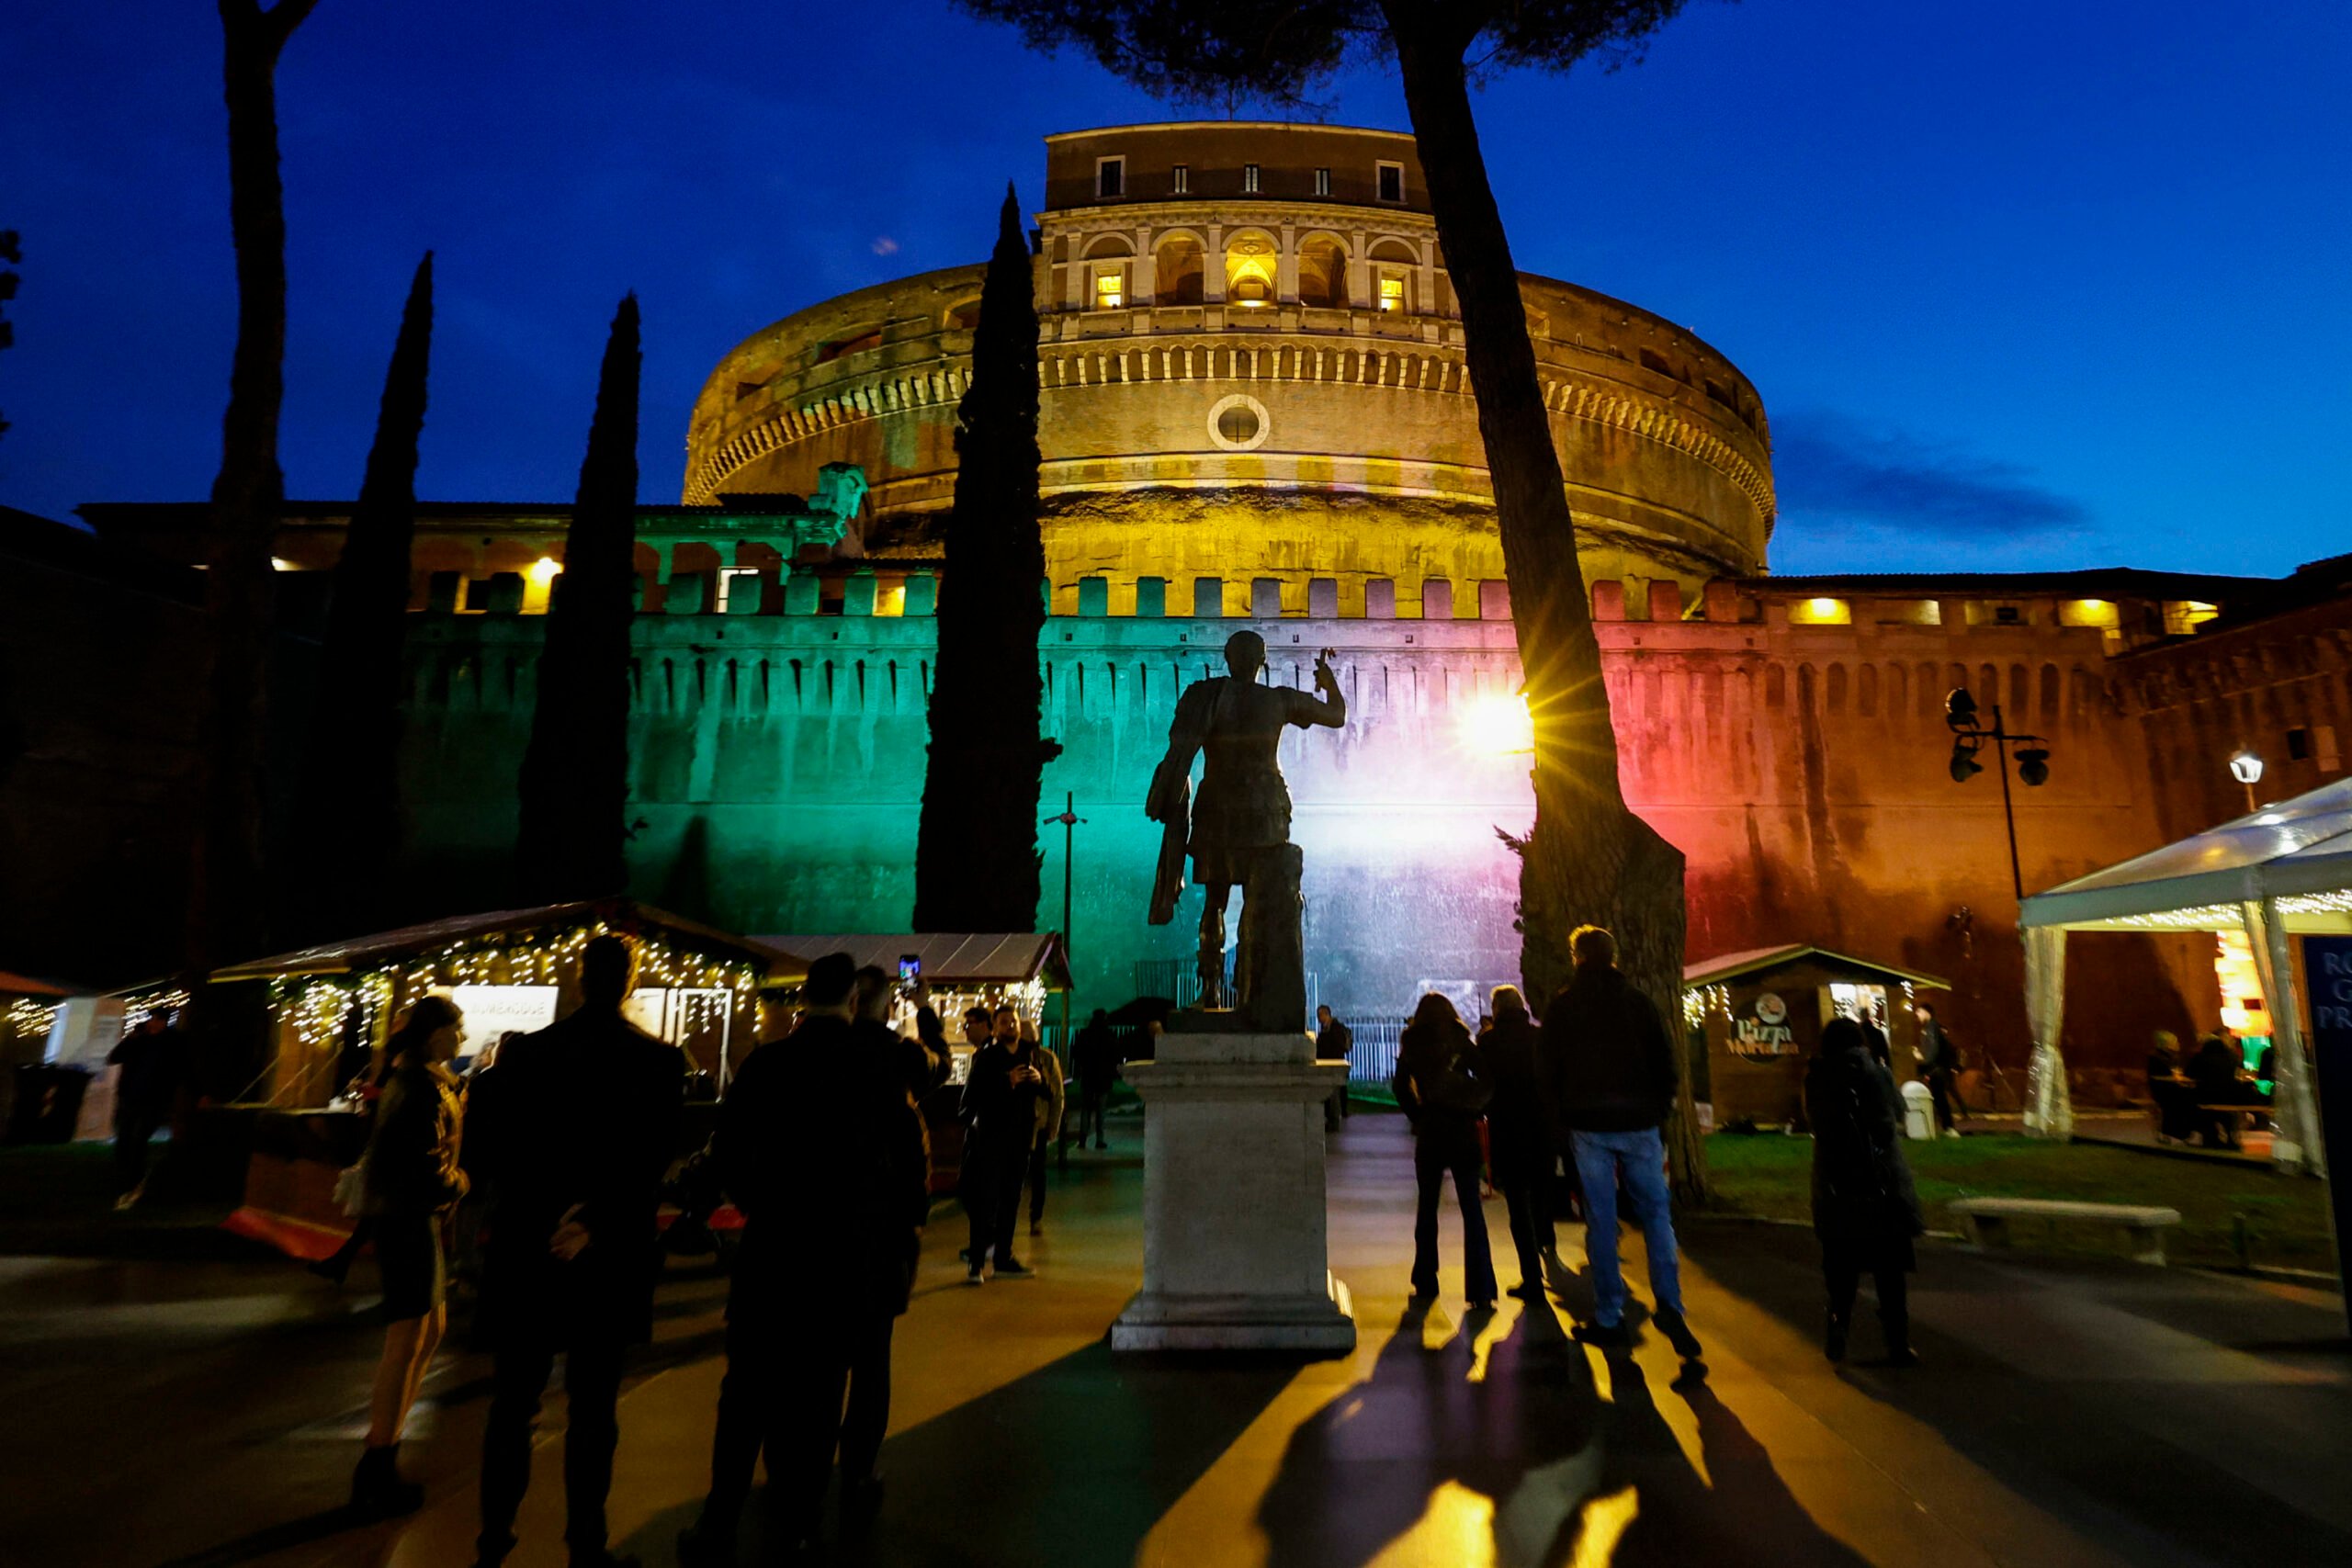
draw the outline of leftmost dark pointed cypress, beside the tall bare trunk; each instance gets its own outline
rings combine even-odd
[[[393,362],[376,407],[360,503],[334,562],[334,602],[320,649],[318,701],[296,825],[296,844],[336,844],[334,875],[301,867],[289,879],[299,940],[358,936],[397,924],[393,877],[400,865],[402,644],[409,632],[409,559],[416,543],[416,440],[426,425],[433,357],[433,252],[416,263],[400,313]]]

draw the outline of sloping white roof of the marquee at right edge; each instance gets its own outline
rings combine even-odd
[[[2352,778],[2025,900],[2023,926],[2065,931],[2237,929],[2237,905],[2279,900],[2291,931],[2343,929],[2352,889]]]

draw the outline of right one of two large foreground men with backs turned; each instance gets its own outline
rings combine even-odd
[[[746,1225],[710,1497],[677,1542],[687,1568],[736,1561],[762,1446],[795,1549],[816,1542],[835,1448],[844,1516],[863,1523],[882,1502],[891,1331],[915,1284],[931,1150],[896,1065],[901,1041],[851,1018],[854,985],[847,952],[811,964],[800,1030],[753,1051],[720,1105],[713,1147]],[[837,1279],[823,1331],[807,1316],[811,1255]]]

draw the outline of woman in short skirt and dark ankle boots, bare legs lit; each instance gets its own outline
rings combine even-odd
[[[400,1474],[400,1429],[447,1326],[442,1220],[466,1197],[459,1171],[459,1088],[442,1063],[456,1056],[463,1018],[447,997],[426,997],[386,1044],[383,1100],[360,1159],[365,1211],[376,1222],[383,1272],[383,1359],[367,1401],[367,1448],[350,1476],[365,1516],[412,1514],[426,1488]]]

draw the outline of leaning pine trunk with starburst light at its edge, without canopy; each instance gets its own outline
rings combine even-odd
[[[1470,28],[1472,21],[1451,26]],[[1461,301],[1510,614],[1536,722],[1536,825],[1519,867],[1522,976],[1529,999],[1543,1006],[1569,978],[1569,931],[1578,924],[1609,926],[1628,978],[1649,992],[1679,1041],[1682,851],[1625,809],[1618,785],[1602,651],[1576,562],[1576,520],[1536,378],[1519,268],[1510,259],[1470,113],[1463,68],[1470,35],[1444,33],[1442,26],[1418,7],[1390,7],[1437,242]],[[1684,1060],[1684,1088],[1665,1135],[1677,1197],[1698,1204],[1708,1190],[1705,1147],[1691,1110],[1686,1053],[1677,1051],[1677,1060]]]

